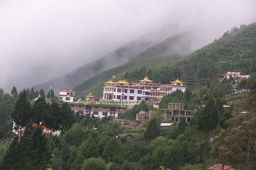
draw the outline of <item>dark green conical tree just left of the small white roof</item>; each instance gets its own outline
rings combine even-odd
[[[147,141],[151,141],[152,139],[155,139],[159,135],[160,135],[160,127],[157,123],[157,119],[155,117],[153,117],[148,122],[148,125],[146,127],[146,131],[144,133],[144,138]]]

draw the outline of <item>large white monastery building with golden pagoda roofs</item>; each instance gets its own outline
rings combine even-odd
[[[145,77],[143,80],[128,83],[125,80],[113,82],[112,80],[104,83],[103,100],[105,101],[146,101],[156,104],[161,101],[163,96],[176,91],[185,91],[186,86],[178,79],[170,84],[154,83]]]

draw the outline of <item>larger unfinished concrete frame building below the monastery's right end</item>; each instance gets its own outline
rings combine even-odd
[[[193,114],[197,110],[185,110],[183,103],[168,103],[168,109],[159,108],[158,111],[164,112],[165,120],[180,122],[180,119],[185,117],[186,123],[188,123],[194,117]]]

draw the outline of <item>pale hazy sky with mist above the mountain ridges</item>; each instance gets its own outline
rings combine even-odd
[[[0,0],[0,85],[44,82],[167,26],[214,40],[256,21],[255,9],[255,0]]]

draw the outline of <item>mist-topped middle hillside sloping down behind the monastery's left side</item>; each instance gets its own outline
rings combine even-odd
[[[143,66],[155,70],[162,66],[173,64],[181,57],[195,50],[195,43],[198,43],[196,40],[196,36],[189,32],[169,37],[140,53],[126,64],[104,71],[82,82],[74,87],[74,90],[77,91],[80,96],[92,92],[96,97],[100,97],[102,95],[104,82],[112,79],[112,75],[116,76],[114,81],[118,81],[118,79],[123,77],[126,71],[141,69]]]

